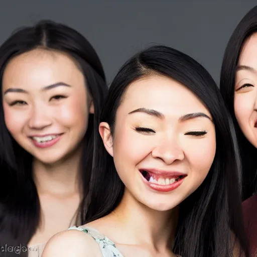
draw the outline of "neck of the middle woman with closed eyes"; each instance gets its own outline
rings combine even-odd
[[[178,221],[178,206],[169,211],[157,211],[138,202],[127,190],[119,206],[111,214],[126,231],[132,244],[151,244],[158,249],[172,249]],[[144,232],[143,232],[144,231]],[[144,233],[144,236],[142,236]]]

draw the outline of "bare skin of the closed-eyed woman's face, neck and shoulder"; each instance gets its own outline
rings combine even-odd
[[[161,112],[162,116],[133,112],[139,108]],[[181,119],[185,114],[198,112],[206,117]],[[150,131],[139,131],[139,127]],[[203,131],[206,133],[202,136],[189,135]],[[106,122],[100,123],[99,132],[125,192],[112,213],[86,226],[114,241],[124,257],[175,256],[170,246],[174,243],[178,206],[201,185],[215,156],[215,127],[209,111],[185,86],[156,75],[135,81],[127,88],[117,109],[114,135]],[[183,172],[187,177],[177,189],[159,192],[144,182],[139,171],[143,168]],[[43,257],[68,256],[68,240],[75,242],[82,236],[85,245],[89,244],[91,238],[81,232],[73,233],[73,238],[71,231],[55,235]],[[57,253],[56,242],[61,252]],[[83,256],[92,256],[87,250],[98,249],[93,243],[90,248],[85,245]]]

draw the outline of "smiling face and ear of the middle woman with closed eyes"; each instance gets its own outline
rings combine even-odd
[[[170,210],[192,194],[216,151],[207,108],[164,76],[133,82],[117,109],[113,138],[107,123],[99,131],[126,190],[155,210]]]

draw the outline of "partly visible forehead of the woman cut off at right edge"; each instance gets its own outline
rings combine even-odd
[[[252,34],[244,42],[238,64],[257,68],[257,33]]]

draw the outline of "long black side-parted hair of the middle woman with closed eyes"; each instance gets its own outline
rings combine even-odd
[[[168,76],[189,88],[208,108],[216,130],[216,154],[212,167],[201,186],[180,204],[174,252],[183,257],[228,257],[232,256],[234,238],[247,256],[235,133],[218,87],[199,63],[165,46],[152,46],[140,52],[115,76],[100,121],[108,122],[112,135],[115,135],[116,111],[126,88],[133,81],[151,74]],[[92,172],[92,202],[88,207],[87,221],[112,212],[124,192],[113,158],[105,150],[99,135],[95,140],[98,154]]]

